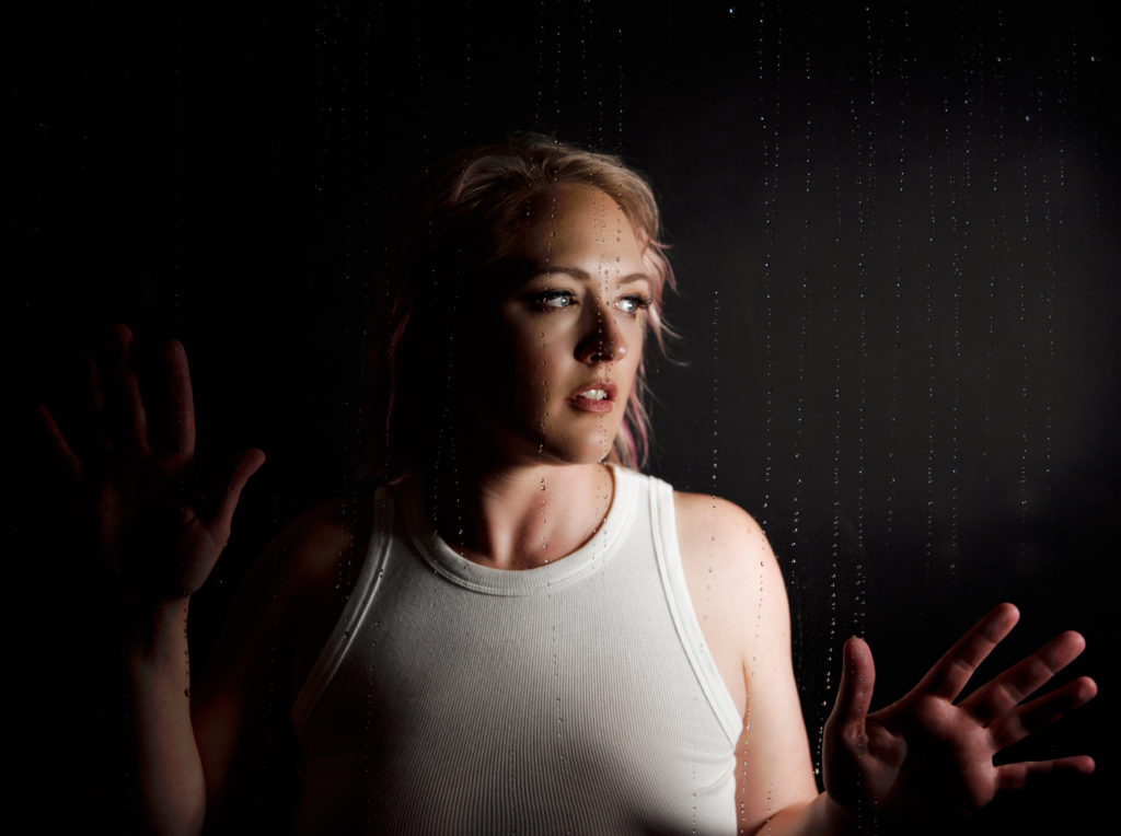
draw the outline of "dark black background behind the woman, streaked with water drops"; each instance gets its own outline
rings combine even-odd
[[[457,147],[555,132],[654,182],[682,338],[650,357],[648,470],[765,524],[815,755],[845,637],[869,639],[882,704],[1012,600],[999,659],[1074,626],[1074,670],[1102,689],[1018,753],[1088,752],[1099,773],[972,827],[1091,829],[1117,750],[1108,8],[10,3],[16,492],[37,471],[21,409],[65,409],[78,347],[113,322],[182,340],[201,450],[269,456],[195,607],[197,663],[252,556],[354,470],[390,195]],[[65,817],[96,689],[87,591],[57,518],[26,504],[4,592],[12,804]]]

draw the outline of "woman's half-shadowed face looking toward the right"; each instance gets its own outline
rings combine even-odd
[[[631,223],[605,193],[560,184],[535,202],[504,261],[513,279],[471,374],[476,426],[513,461],[600,462],[634,384],[650,304]]]

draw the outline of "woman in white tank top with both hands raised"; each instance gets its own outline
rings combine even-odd
[[[1015,624],[1006,604],[874,714],[870,651],[845,644],[819,793],[766,538],[731,503],[632,470],[670,280],[649,187],[521,137],[418,194],[378,486],[261,558],[194,697],[187,605],[262,454],[207,507],[183,349],[165,351],[172,408],[150,415],[124,328],[95,369],[106,455],[75,455],[40,412],[114,569],[146,824],[242,827],[289,735],[290,816],[314,833],[910,832],[1093,769],[992,764],[1094,695],[1082,678],[1021,704],[1081,652],[1076,633],[954,704]]]

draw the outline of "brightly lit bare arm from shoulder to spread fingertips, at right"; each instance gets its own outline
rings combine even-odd
[[[1067,632],[958,699],[1019,617],[1016,607],[1002,604],[907,695],[872,714],[871,651],[860,639],[846,642],[836,705],[825,726],[826,792],[817,793],[794,684],[786,592],[766,538],[743,511],[707,496],[678,494],[678,520],[694,603],[706,616],[702,626],[717,663],[725,660],[725,681],[730,642],[740,648],[741,833],[938,832],[1003,790],[1093,770],[1085,756],[993,765],[997,752],[1096,693],[1093,680],[1082,677],[1031,699],[1082,652],[1082,637]],[[717,583],[706,583],[706,576]]]

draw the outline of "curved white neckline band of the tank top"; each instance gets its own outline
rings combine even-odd
[[[405,528],[421,558],[447,580],[489,595],[539,595],[597,570],[619,550],[630,530],[638,503],[641,474],[610,465],[614,480],[611,505],[591,539],[565,557],[532,569],[495,569],[469,560],[436,533],[424,507],[419,480],[401,486]]]

